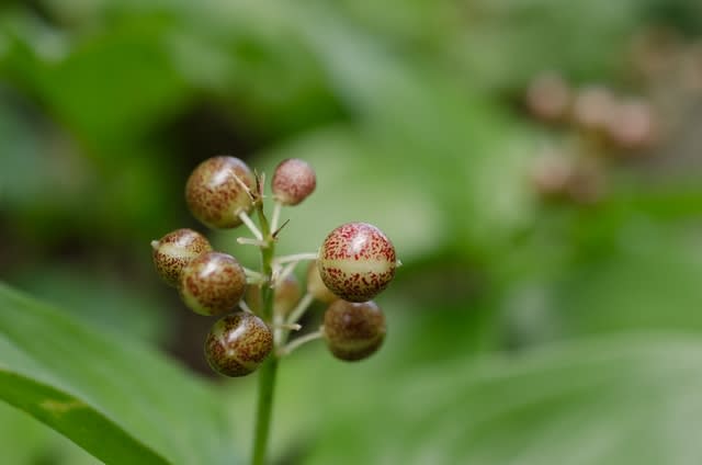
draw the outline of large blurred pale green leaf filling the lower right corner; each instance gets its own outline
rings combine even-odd
[[[354,386],[303,463],[697,464],[700,366],[699,339],[637,336],[418,368]]]

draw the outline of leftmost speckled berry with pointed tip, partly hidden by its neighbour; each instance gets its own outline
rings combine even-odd
[[[151,242],[156,272],[170,286],[178,287],[180,274],[191,260],[212,250],[207,239],[192,229],[177,229]]]

